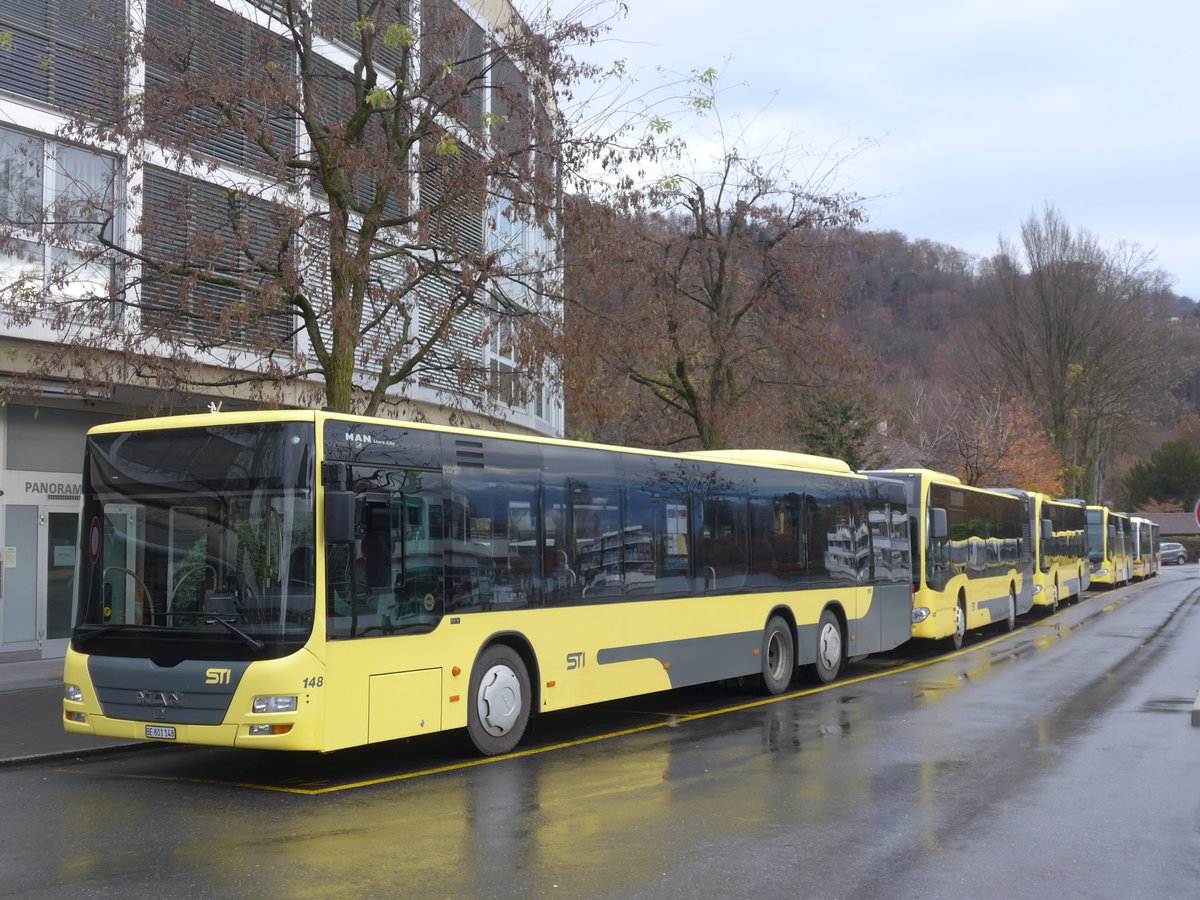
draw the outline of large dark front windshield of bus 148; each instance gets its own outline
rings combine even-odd
[[[313,456],[302,422],[90,436],[76,648],[169,665],[304,644]]]

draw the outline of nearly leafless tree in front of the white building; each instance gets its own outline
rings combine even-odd
[[[307,383],[367,413],[413,383],[448,402],[533,389],[559,319],[564,180],[647,149],[568,118],[601,77],[570,54],[604,29],[583,19],[596,7],[497,5],[485,28],[452,0],[256,6],[251,23],[146,0],[110,48],[128,82],[62,130],[107,148],[84,168],[109,175],[60,173],[77,190],[56,206],[7,204],[0,240],[70,251],[0,286],[0,314],[55,336],[30,376]]]

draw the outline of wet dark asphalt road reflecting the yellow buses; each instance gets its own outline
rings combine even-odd
[[[0,896],[1200,896],[1200,571],[763,702],[0,770]]]

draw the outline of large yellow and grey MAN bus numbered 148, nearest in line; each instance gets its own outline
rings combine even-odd
[[[317,412],[88,437],[67,731],[330,751],[910,637],[895,482]]]

